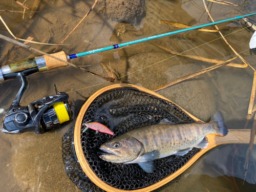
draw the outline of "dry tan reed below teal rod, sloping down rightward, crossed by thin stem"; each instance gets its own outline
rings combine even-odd
[[[205,57],[200,57],[200,56],[194,56],[194,55],[183,55],[183,54],[179,54],[175,51],[172,51],[168,48],[165,48],[163,46],[159,46],[157,44],[155,44],[155,42],[152,42],[155,46],[163,49],[164,51],[167,51],[169,53],[172,53],[173,55],[180,55],[180,56],[184,56],[184,57],[188,57],[188,58],[191,58],[191,59],[195,59],[195,60],[200,60],[200,61],[205,61],[205,62],[210,62],[210,63],[219,63],[219,62],[222,62],[221,60],[215,60],[215,59],[208,59],[208,58],[205,58]],[[236,67],[236,68],[247,68],[248,65],[246,64],[237,64],[237,63],[228,63],[227,66],[230,66],[230,67]]]

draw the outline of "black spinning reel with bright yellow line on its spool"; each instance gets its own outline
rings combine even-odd
[[[61,123],[72,119],[72,104],[68,100],[69,95],[59,92],[55,84],[56,95],[38,99],[27,106],[19,105],[20,98],[27,87],[25,76],[37,71],[37,69],[27,69],[20,73],[5,75],[5,79],[19,78],[22,81],[22,87],[4,116],[2,132],[23,133],[35,129],[41,134],[56,129]]]

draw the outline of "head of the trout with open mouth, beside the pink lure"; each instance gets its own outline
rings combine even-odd
[[[99,157],[104,161],[113,163],[127,163],[133,161],[144,150],[143,144],[134,137],[114,138],[100,146]]]

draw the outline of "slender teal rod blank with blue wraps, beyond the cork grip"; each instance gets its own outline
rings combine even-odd
[[[151,37],[146,37],[146,38],[142,38],[142,39],[138,39],[138,40],[124,42],[123,44],[119,44],[119,45],[117,44],[117,45],[113,45],[113,46],[110,46],[110,47],[104,47],[104,48],[100,48],[100,49],[94,49],[94,50],[91,50],[91,51],[77,53],[77,54],[69,55],[69,58],[73,59],[73,58],[77,58],[77,57],[91,55],[93,53],[99,53],[99,52],[102,52],[102,51],[108,51],[108,50],[117,49],[117,48],[121,48],[121,47],[125,47],[125,46],[130,46],[130,45],[133,45],[133,44],[137,44],[138,42],[144,42],[144,41],[147,41],[147,40],[152,40],[152,39],[156,39],[156,38],[160,38],[160,37],[174,35],[174,34],[182,33],[182,32],[185,32],[185,31],[190,31],[190,30],[199,29],[199,28],[202,28],[202,27],[207,27],[207,26],[211,26],[211,25],[224,23],[224,22],[229,22],[230,20],[241,19],[242,17],[248,17],[248,16],[255,15],[255,14],[256,13],[251,13],[251,14],[248,14],[248,15],[243,15],[243,16],[238,16],[238,17],[233,17],[233,18],[229,18],[229,19],[220,20],[219,22],[204,24],[204,25],[200,25],[200,26],[181,29],[181,30],[178,30],[178,31],[172,31],[172,32],[169,32],[169,33],[164,33],[164,34],[155,35],[155,36],[151,36]]]

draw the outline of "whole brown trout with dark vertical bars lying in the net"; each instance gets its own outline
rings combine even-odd
[[[146,173],[153,173],[154,160],[170,155],[183,156],[194,147],[206,148],[206,135],[227,135],[224,119],[218,111],[207,123],[163,123],[147,125],[126,132],[100,145],[99,158],[123,164],[139,164]]]

